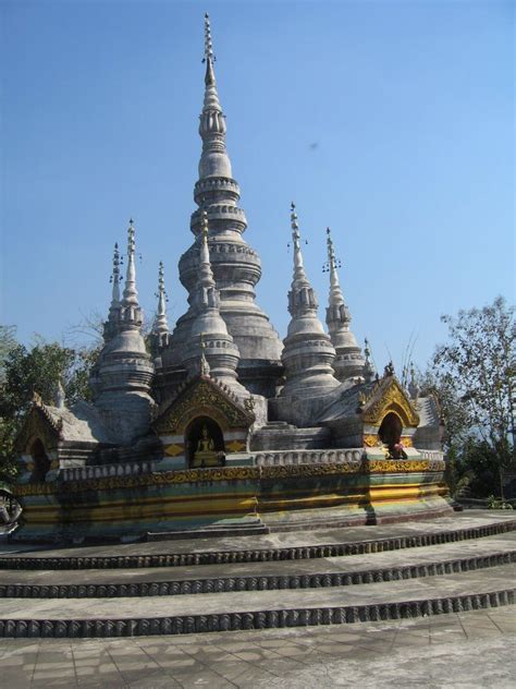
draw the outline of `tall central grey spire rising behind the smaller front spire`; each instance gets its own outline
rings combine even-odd
[[[202,213],[206,211],[209,221],[209,243],[206,250],[209,252],[220,297],[220,315],[241,354],[238,377],[253,394],[272,396],[281,374],[281,342],[269,318],[256,303],[255,286],[261,277],[261,264],[257,252],[243,238],[247,219],[238,206],[241,190],[233,179],[226,150],[226,122],[217,88],[208,15],[205,16],[204,28],[206,71],[199,118],[202,150],[199,179],[194,190],[198,208],[191,219],[191,230],[196,241],[180,259],[180,279],[188,291],[189,309],[177,319],[170,344],[163,351],[163,367],[165,374],[174,379],[180,380],[184,375],[180,352],[188,346],[192,324],[196,318],[194,302],[205,251],[199,238],[202,231]]]

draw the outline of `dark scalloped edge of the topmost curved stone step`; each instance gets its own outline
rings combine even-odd
[[[516,520],[454,529],[434,533],[368,539],[348,543],[314,544],[266,548],[200,551],[197,553],[168,553],[156,555],[118,555],[93,557],[0,557],[0,569],[126,569],[139,567],[189,567],[194,565],[226,565],[232,563],[263,563],[273,560],[316,559],[383,553],[401,548],[425,547],[469,541],[516,530]]]

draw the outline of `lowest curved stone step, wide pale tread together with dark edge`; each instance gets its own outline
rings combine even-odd
[[[0,637],[133,637],[421,617],[515,601],[515,565],[310,590],[145,599],[0,600]]]

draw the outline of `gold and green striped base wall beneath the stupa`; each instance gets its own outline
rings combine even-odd
[[[19,485],[17,541],[145,539],[232,524],[381,523],[452,511],[441,460],[195,469]]]

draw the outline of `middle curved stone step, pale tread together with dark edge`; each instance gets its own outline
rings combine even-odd
[[[357,585],[432,577],[516,561],[516,531],[478,541],[307,560],[138,569],[3,571],[0,597],[186,595]]]

